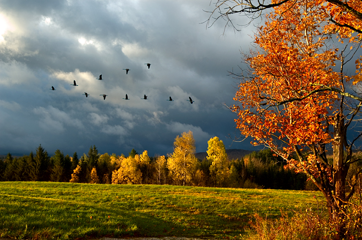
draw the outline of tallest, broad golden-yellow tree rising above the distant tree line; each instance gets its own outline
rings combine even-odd
[[[183,132],[173,142],[173,153],[167,158],[169,174],[176,184],[190,184],[196,170],[197,158],[193,132]]]

